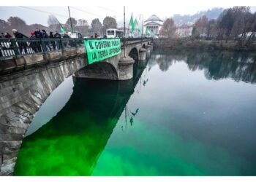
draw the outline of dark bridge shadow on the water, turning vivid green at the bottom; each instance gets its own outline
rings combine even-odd
[[[91,175],[146,68],[128,81],[73,77],[71,97],[48,123],[23,139],[15,175]]]

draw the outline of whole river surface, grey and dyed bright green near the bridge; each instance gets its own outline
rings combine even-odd
[[[127,82],[69,78],[15,175],[256,175],[255,83],[255,55],[235,52],[154,52]]]

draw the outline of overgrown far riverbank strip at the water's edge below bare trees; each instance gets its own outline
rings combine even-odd
[[[256,42],[249,46],[245,43],[234,40],[192,40],[189,38],[181,39],[154,39],[154,47],[161,49],[198,49],[198,50],[236,50],[236,51],[255,51]]]

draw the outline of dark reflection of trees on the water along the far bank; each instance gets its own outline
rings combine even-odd
[[[167,71],[176,61],[187,63],[189,70],[205,71],[207,79],[230,78],[236,82],[256,82],[256,54],[248,52],[179,50],[156,51],[160,70]]]

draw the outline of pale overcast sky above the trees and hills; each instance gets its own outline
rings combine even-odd
[[[34,1],[32,1],[34,2]],[[53,5],[51,7],[31,7],[31,9],[27,9],[25,7],[0,7],[0,19],[7,20],[10,16],[18,16],[21,17],[23,20],[26,21],[27,24],[32,23],[40,23],[42,25],[48,25],[47,20],[50,13],[53,13],[58,20],[61,23],[65,23],[68,18],[68,9],[67,6],[63,7],[56,7],[56,2],[54,4],[47,3],[48,1],[41,1],[43,4],[50,4]],[[53,2],[53,1],[52,1]],[[200,1],[200,0],[176,0],[175,3],[171,1],[163,1],[163,0],[148,0],[148,1],[142,1],[142,0],[127,0],[124,1],[124,3],[121,3],[122,1],[80,1],[80,6],[78,7],[78,3],[75,3],[75,0],[71,1],[63,1],[64,3],[61,3],[62,1],[57,1],[57,4],[63,5],[67,4],[70,5],[70,13],[72,17],[75,17],[76,19],[82,18],[85,20],[88,20],[89,23],[91,23],[91,20],[98,17],[99,20],[103,20],[105,16],[111,16],[116,17],[116,20],[122,20],[123,19],[123,10],[124,5],[126,7],[126,16],[127,19],[131,16],[133,13],[134,17],[139,17],[140,14],[143,15],[144,20],[146,20],[150,15],[157,15],[162,19],[165,19],[166,17],[171,17],[174,14],[181,14],[181,15],[187,15],[187,14],[195,14],[196,12],[211,9],[213,7],[233,7],[235,5],[254,5],[252,4],[252,1],[249,0],[243,0],[243,4],[238,3],[239,1],[233,0],[223,0],[223,1]],[[67,3],[68,2],[68,3]],[[107,3],[106,3],[107,2]],[[109,3],[108,3],[109,2]],[[129,2],[129,4],[127,3]],[[27,6],[27,4],[30,4],[28,2],[24,2],[23,4],[17,3],[17,5]],[[42,3],[41,3],[42,4]],[[87,4],[89,4],[87,6]],[[8,2],[7,2],[7,5]],[[33,5],[33,4],[32,4]],[[32,9],[38,9],[43,12],[35,11]],[[80,10],[82,11],[80,11]],[[48,13],[49,12],[49,13]]]

